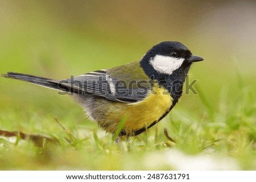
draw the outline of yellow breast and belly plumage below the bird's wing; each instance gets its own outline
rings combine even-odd
[[[111,122],[108,132],[113,133],[123,116],[126,116],[123,130],[127,134],[133,133],[145,126],[149,126],[154,121],[158,121],[160,117],[169,111],[172,105],[172,98],[169,92],[163,87],[154,87],[147,98],[138,103],[124,104],[113,103],[108,108],[106,118],[108,123]]]

